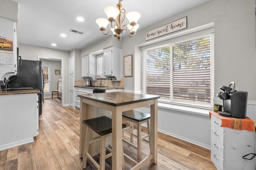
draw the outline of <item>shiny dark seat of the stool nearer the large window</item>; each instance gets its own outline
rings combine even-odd
[[[150,114],[142,113],[136,110],[123,111],[122,114],[123,114],[123,117],[129,118],[138,122],[150,119]]]

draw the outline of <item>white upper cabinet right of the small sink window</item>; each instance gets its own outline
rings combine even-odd
[[[121,48],[113,46],[103,50],[103,74],[121,80]]]

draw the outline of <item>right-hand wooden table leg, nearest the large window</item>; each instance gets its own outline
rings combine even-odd
[[[150,153],[153,154],[152,162],[157,163],[157,127],[158,127],[157,99],[150,105]]]

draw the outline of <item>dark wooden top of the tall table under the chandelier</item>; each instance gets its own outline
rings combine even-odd
[[[160,98],[160,96],[126,92],[79,94],[78,97],[116,107]]]

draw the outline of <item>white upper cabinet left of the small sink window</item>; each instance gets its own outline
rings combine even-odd
[[[96,77],[96,56],[86,55],[82,57],[82,77]]]

